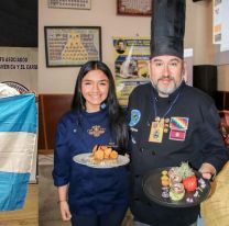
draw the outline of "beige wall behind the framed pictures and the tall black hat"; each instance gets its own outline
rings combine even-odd
[[[185,47],[194,48],[194,65],[212,64],[210,3],[186,0]],[[78,67],[46,68],[45,25],[101,26],[102,60],[113,71],[112,36],[150,36],[151,18],[117,15],[117,0],[91,0],[91,10],[48,9],[39,0],[39,92],[73,93]]]

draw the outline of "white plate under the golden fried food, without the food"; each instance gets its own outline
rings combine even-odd
[[[86,154],[79,154],[77,156],[73,157],[73,160],[77,163],[85,165],[87,167],[92,167],[92,168],[113,168],[113,167],[120,167],[129,163],[130,159],[127,156],[118,156],[118,159],[116,162],[101,162],[101,163],[91,163],[89,162],[88,158],[91,155],[91,152],[86,152]]]

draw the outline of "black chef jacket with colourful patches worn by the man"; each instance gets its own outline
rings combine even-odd
[[[185,82],[168,98],[160,98],[151,83],[137,87],[130,95],[128,113],[131,133],[131,211],[134,217],[155,226],[186,226],[196,222],[199,206],[164,207],[143,193],[142,177],[152,169],[179,166],[198,170],[203,162],[217,172],[228,160],[219,133],[220,118],[214,101]],[[149,142],[155,116],[168,118],[161,143]],[[161,181],[155,181],[161,183]]]

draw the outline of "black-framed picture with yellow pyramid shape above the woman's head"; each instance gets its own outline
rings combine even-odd
[[[79,67],[101,60],[100,26],[45,26],[46,67]]]

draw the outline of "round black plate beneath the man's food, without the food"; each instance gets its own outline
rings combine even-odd
[[[198,192],[198,196],[194,196],[194,192],[187,192],[185,191],[185,195],[182,200],[179,201],[173,201],[170,197],[163,197],[162,196],[162,183],[161,183],[161,177],[162,177],[162,171],[163,170],[170,170],[171,168],[159,168],[155,170],[150,171],[148,174],[143,177],[142,180],[142,187],[145,195],[153,202],[164,205],[164,206],[170,206],[170,207],[188,207],[188,206],[195,206],[198,205],[200,202],[205,201],[209,193],[210,193],[210,182],[206,179],[206,187],[205,189],[201,189],[201,192]],[[201,174],[197,171],[195,171],[195,174],[198,179],[201,178]],[[188,203],[186,201],[187,197],[193,197],[194,202]]]

